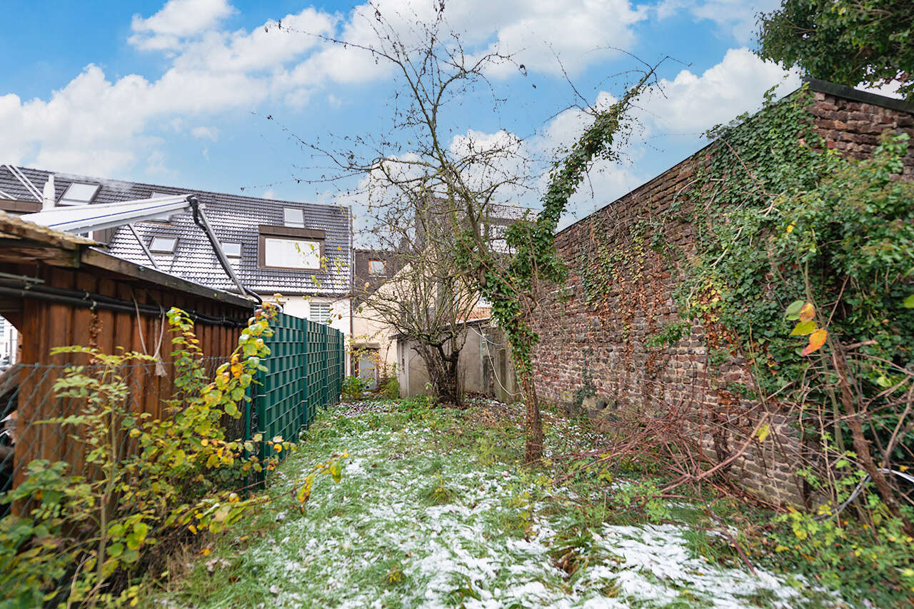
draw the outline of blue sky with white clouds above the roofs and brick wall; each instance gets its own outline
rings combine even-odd
[[[377,7],[405,23],[430,16],[432,4]],[[661,90],[639,101],[641,126],[625,161],[594,172],[576,198],[577,215],[589,213],[695,151],[707,128],[757,108],[771,86],[798,86],[795,74],[750,52],[756,13],[776,4],[450,0],[445,15],[470,52],[498,48],[526,70],[494,70],[500,112],[490,112],[491,97],[469,98],[449,133],[504,132],[551,150],[586,120],[563,109],[622,94],[626,73],[640,67],[629,53],[649,63],[673,58],[661,67]],[[336,187],[303,181],[320,176],[323,161],[291,134],[326,141],[389,123],[391,70],[321,38],[370,44],[374,9],[364,4],[6,0],[5,9],[3,163],[331,201]],[[274,27],[280,19],[288,29]]]

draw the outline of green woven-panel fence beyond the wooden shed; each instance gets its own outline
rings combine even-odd
[[[283,313],[271,323],[270,356],[262,363],[253,395],[248,437],[281,435],[295,441],[318,408],[339,401],[345,375],[343,333],[325,324]],[[261,448],[266,456],[268,446]],[[285,453],[282,453],[284,455]]]

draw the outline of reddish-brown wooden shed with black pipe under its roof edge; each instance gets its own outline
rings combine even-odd
[[[72,432],[38,422],[69,413],[54,399],[53,382],[66,365],[88,362],[51,356],[52,347],[157,354],[159,365],[130,371],[129,402],[132,410],[158,418],[165,415],[163,401],[171,397],[174,380],[165,313],[176,306],[195,320],[203,352],[215,366],[237,346],[256,306],[237,294],[116,258],[97,245],[0,212],[0,315],[20,334],[16,366],[0,376],[0,418],[8,418],[6,450],[0,451],[7,475],[0,486],[17,484],[24,465],[37,458],[68,461],[80,471],[74,448],[79,443],[67,441]]]

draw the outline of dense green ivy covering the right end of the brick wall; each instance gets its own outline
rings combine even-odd
[[[898,179],[909,136],[846,158],[814,131],[812,102],[805,89],[769,95],[711,132],[684,193],[697,247],[675,294],[708,353],[748,364],[756,399],[804,447],[792,466],[818,513],[792,518],[795,543],[778,550],[798,555],[820,555],[826,529],[851,536],[839,512],[861,492],[854,535],[877,546],[914,534],[908,483],[893,474],[914,464],[914,184]],[[914,590],[909,560],[890,562],[889,585]]]

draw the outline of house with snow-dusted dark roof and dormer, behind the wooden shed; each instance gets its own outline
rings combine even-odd
[[[0,209],[17,215],[185,195],[193,195],[201,204],[244,288],[282,305],[289,315],[350,334],[349,208],[0,166]],[[124,260],[207,287],[240,292],[194,214],[97,230],[90,237]],[[9,344],[8,331],[4,337]]]

